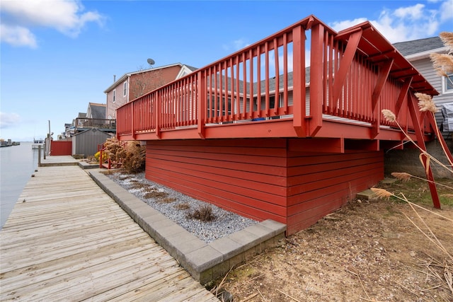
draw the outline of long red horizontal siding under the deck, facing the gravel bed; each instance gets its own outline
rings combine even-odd
[[[147,178],[254,219],[286,223],[286,143],[149,141]]]

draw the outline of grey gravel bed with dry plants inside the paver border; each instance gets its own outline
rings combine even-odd
[[[214,204],[207,204],[164,185],[151,182],[144,177],[144,173],[115,172],[107,174],[107,176],[205,243],[229,236],[231,233],[258,223],[256,220],[248,219],[216,207]],[[212,209],[212,214],[215,217],[212,221],[200,221],[188,217],[197,209],[206,206]]]

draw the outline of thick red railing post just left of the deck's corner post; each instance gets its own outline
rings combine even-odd
[[[292,125],[297,137],[306,136],[305,127],[305,30],[297,26],[292,30],[293,44],[293,108],[294,115]]]

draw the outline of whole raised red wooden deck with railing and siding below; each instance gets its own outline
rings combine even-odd
[[[148,141],[147,178],[294,233],[383,178],[407,138],[381,110],[434,138],[414,93],[437,95],[371,23],[309,16],[118,108],[117,137]]]

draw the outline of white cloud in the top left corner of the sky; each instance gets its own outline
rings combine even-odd
[[[96,22],[102,25],[104,19],[96,11],[84,12],[84,6],[78,0],[1,1],[0,8],[2,13],[8,16],[1,21],[1,40],[18,46],[35,47],[36,40],[30,30],[34,26],[54,28],[69,37],[77,37],[87,23]],[[7,33],[4,33],[3,28],[8,29],[7,33],[16,39],[4,37]],[[14,44],[11,40],[25,42]],[[35,42],[31,42],[32,40]]]

